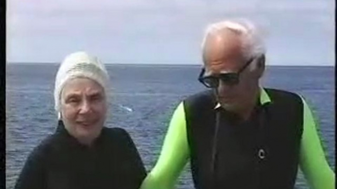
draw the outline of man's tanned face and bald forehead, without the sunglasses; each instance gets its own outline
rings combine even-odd
[[[221,35],[209,36],[203,57],[205,75],[237,73],[242,69],[248,60],[243,56],[241,44],[240,36],[231,30],[224,30]],[[239,82],[235,85],[228,85],[220,80],[217,96],[222,107],[234,112],[245,108],[258,87],[258,79],[256,73],[246,68],[240,73]]]

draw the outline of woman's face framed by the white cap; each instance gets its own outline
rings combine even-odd
[[[102,86],[88,78],[75,78],[61,92],[61,116],[66,130],[79,142],[90,144],[102,130],[107,102]]]

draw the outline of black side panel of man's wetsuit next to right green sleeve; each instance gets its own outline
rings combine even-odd
[[[261,165],[264,188],[292,189],[297,175],[303,132],[303,104],[299,96],[269,90],[274,98],[265,120],[266,159]],[[268,182],[269,181],[269,182]]]

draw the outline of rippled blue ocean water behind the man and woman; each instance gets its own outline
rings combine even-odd
[[[12,189],[30,151],[56,128],[54,78],[57,64],[7,64],[6,189]],[[111,75],[108,127],[125,128],[149,171],[154,166],[173,110],[197,82],[200,66],[107,65]],[[267,67],[262,84],[302,94],[320,128],[329,165],[335,169],[334,67]],[[194,189],[189,165],[178,189]],[[308,185],[300,171],[296,189]]]

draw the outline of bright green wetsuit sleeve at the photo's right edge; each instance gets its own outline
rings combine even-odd
[[[313,114],[304,104],[303,134],[300,149],[300,166],[311,189],[335,189],[335,173],[328,165],[316,130]]]

